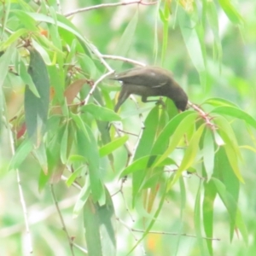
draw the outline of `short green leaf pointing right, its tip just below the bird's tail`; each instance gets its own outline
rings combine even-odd
[[[110,110],[108,108],[103,108],[102,106],[98,106],[95,104],[88,104],[85,105],[82,110],[84,112],[88,112],[94,116],[95,119],[101,120],[101,121],[119,121],[121,118],[117,113],[114,113],[113,110]]]

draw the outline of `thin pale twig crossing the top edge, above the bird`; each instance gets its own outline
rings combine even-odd
[[[119,3],[102,3],[102,4],[90,6],[90,7],[73,10],[72,12],[67,13],[65,16],[69,17],[71,15],[77,15],[79,13],[87,12],[91,9],[108,8],[108,7],[115,7],[115,6],[128,5],[128,4],[134,4],[134,3],[138,3],[142,5],[154,5],[155,3],[157,3],[157,1],[152,3],[144,3],[142,0],[136,0],[132,2],[119,2]]]

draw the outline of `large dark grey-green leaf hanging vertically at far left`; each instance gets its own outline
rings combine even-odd
[[[29,137],[36,136],[37,141],[44,134],[49,109],[49,77],[43,58],[38,51],[29,48],[30,63],[28,73],[32,77],[40,98],[32,93],[26,85],[25,89],[25,121]]]

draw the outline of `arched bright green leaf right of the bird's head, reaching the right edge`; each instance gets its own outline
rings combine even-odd
[[[231,117],[244,120],[247,123],[247,125],[251,125],[254,129],[256,129],[256,120],[253,119],[253,117],[248,113],[242,111],[240,108],[232,106],[222,106],[214,108],[211,113],[226,114]]]

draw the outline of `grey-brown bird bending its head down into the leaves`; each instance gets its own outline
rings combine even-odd
[[[114,112],[118,112],[120,106],[131,94],[142,96],[142,102],[160,102],[160,100],[148,100],[148,97],[166,96],[172,99],[177,109],[184,111],[187,107],[187,94],[177,84],[172,73],[164,68],[135,67],[122,73],[116,73],[109,79],[122,82]]]

